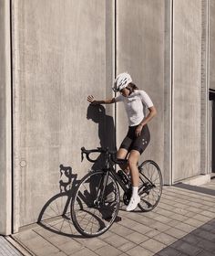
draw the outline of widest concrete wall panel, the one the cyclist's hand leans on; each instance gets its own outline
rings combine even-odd
[[[80,162],[81,146],[113,146],[111,107],[87,109],[88,94],[104,99],[110,93],[113,6],[100,0],[12,2],[17,230],[35,222],[59,192],[59,165],[71,166],[80,178],[90,166]]]

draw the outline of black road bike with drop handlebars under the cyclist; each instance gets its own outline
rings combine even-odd
[[[127,160],[118,159],[116,151],[108,148],[87,150],[81,148],[89,162],[97,160],[89,155],[99,153],[104,159],[104,167],[100,170],[90,170],[84,176],[71,201],[71,218],[75,228],[86,237],[97,237],[107,231],[118,217],[120,199],[128,205],[132,193],[130,177],[122,170],[116,172],[116,165],[125,165]],[[146,160],[138,165],[140,203],[138,208],[150,211],[155,208],[162,194],[162,175],[152,160]],[[119,187],[124,191],[120,198]]]

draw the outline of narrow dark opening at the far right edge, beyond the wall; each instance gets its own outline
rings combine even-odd
[[[212,102],[212,112],[211,112],[211,171],[215,173],[215,90],[210,89],[209,93],[210,101]]]

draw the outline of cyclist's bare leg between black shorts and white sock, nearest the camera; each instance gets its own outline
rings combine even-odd
[[[133,187],[138,187],[138,159],[139,152],[137,150],[131,150],[128,156],[128,167],[130,169],[131,182]]]

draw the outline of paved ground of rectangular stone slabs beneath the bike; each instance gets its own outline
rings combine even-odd
[[[13,239],[36,256],[215,254],[215,179],[200,187],[164,187],[153,211],[126,212],[122,204],[118,216],[105,234],[93,239],[80,236],[70,219],[60,217],[41,219]]]

